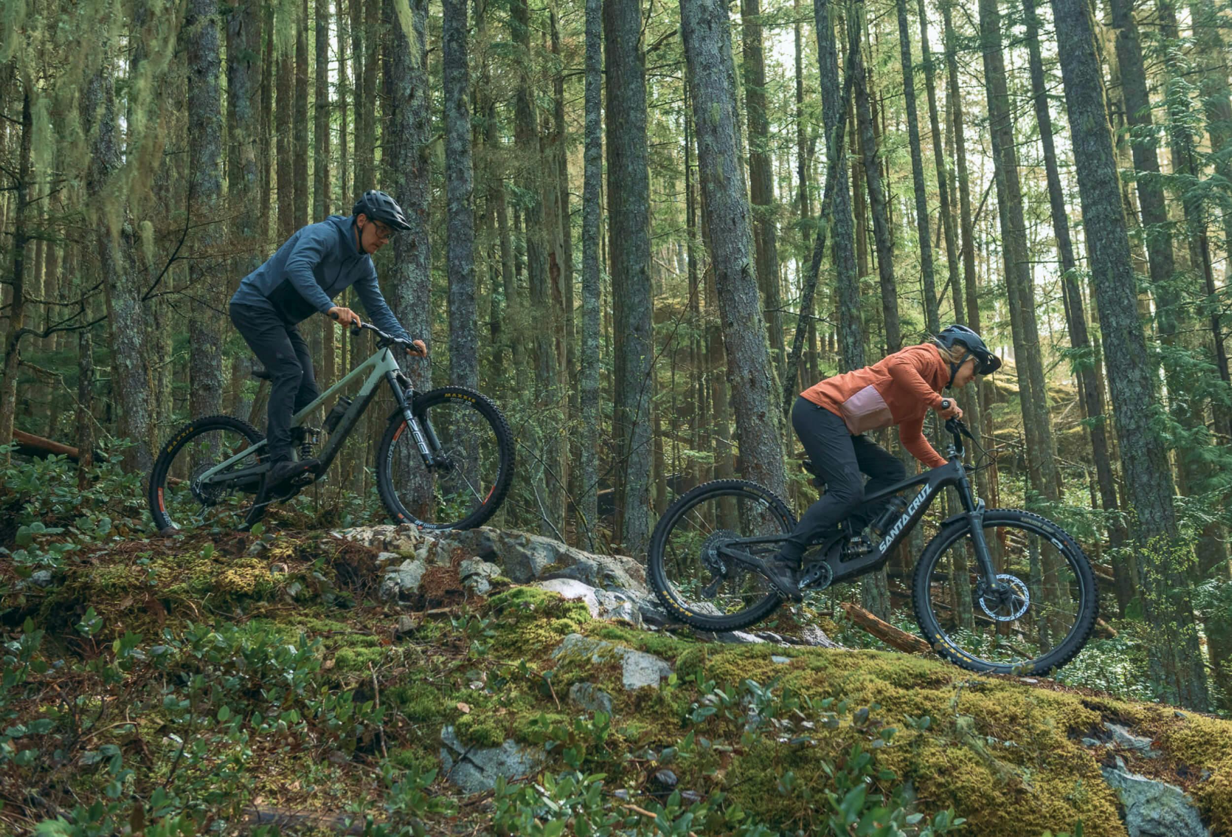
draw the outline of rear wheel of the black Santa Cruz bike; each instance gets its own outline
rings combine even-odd
[[[737,630],[765,619],[779,593],[758,572],[719,553],[743,538],[787,534],[796,521],[787,505],[747,480],[716,480],[676,500],[650,535],[654,592],[675,618],[702,630]],[[737,544],[769,558],[780,542]]]

